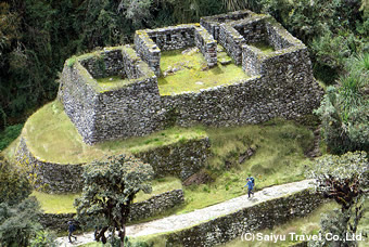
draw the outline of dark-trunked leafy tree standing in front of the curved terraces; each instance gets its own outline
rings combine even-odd
[[[139,191],[151,192],[148,183],[154,171],[139,159],[117,155],[94,160],[84,169],[82,195],[75,200],[77,219],[101,224],[96,239],[106,243],[105,232],[118,231],[120,246],[124,246],[126,222],[130,205]]]

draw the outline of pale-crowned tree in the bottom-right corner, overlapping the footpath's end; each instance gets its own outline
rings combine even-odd
[[[315,161],[309,177],[316,180],[319,193],[341,206],[341,211],[333,211],[321,219],[321,231],[339,235],[340,239],[321,239],[310,246],[356,246],[356,240],[347,240],[346,236],[356,234],[365,212],[364,203],[369,192],[367,154],[355,152],[342,156],[326,155]]]

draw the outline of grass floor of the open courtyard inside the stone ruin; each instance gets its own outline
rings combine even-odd
[[[201,52],[182,54],[181,50],[164,51],[161,57],[161,70],[164,73],[169,67],[179,68],[173,75],[158,78],[161,95],[171,93],[196,92],[200,89],[213,88],[220,84],[232,84],[241,79],[249,78],[241,66],[233,63],[202,70],[206,67],[206,61]],[[221,53],[224,56],[224,54]]]

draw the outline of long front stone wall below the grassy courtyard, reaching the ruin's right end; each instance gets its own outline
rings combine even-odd
[[[176,125],[183,127],[239,126],[275,117],[296,119],[319,106],[322,91],[317,83],[305,83],[304,70],[294,76],[298,80],[289,84],[255,77],[201,92],[166,95],[163,105],[170,106],[167,110],[171,110]],[[276,79],[287,79],[282,77]]]

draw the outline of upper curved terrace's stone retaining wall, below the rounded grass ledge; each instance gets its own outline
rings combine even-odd
[[[21,139],[16,151],[17,161],[28,167],[29,178],[36,190],[49,193],[78,193],[82,190],[82,166],[85,164],[48,162],[35,156],[28,148],[24,138]],[[174,176],[186,180],[200,171],[209,155],[207,138],[188,140],[171,145],[135,154],[143,162],[150,164],[155,178]]]

